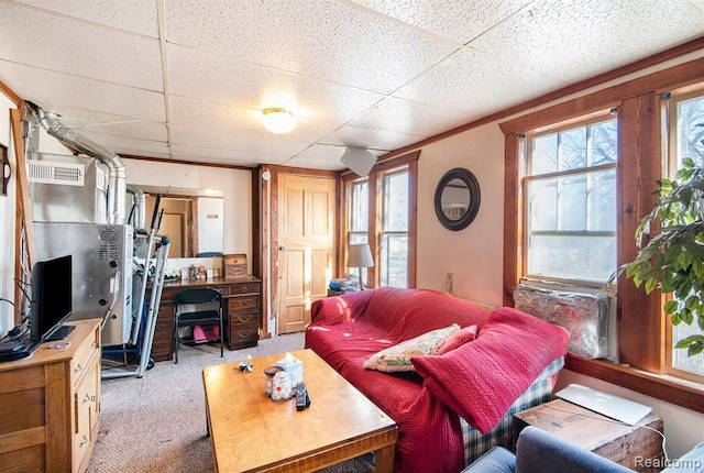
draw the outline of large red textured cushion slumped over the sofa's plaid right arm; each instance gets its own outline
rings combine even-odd
[[[566,353],[569,338],[562,327],[502,307],[473,342],[411,363],[433,396],[485,433],[550,362]]]

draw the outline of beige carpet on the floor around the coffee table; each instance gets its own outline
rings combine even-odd
[[[103,380],[100,433],[88,473],[211,472],[202,367],[302,348],[302,332],[262,340],[252,349],[226,349],[224,359],[217,344],[185,346],[178,364],[156,363],[142,378]],[[117,370],[103,362],[106,367]],[[322,471],[369,472],[370,461],[365,455]]]

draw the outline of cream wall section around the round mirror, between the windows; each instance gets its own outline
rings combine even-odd
[[[436,217],[435,193],[444,173],[464,167],[480,183],[474,221],[450,231]],[[502,305],[504,261],[504,134],[486,124],[425,146],[418,161],[417,286],[440,289],[453,273],[452,294]]]

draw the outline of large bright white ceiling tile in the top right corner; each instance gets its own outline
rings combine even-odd
[[[700,36],[704,23],[697,16],[660,0],[584,0],[570,8],[539,0],[470,45],[575,82]]]

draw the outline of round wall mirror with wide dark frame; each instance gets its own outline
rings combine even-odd
[[[436,188],[436,215],[448,230],[468,228],[480,210],[480,183],[470,170],[448,170]]]

